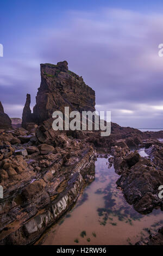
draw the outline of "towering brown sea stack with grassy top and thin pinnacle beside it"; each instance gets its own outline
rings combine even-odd
[[[27,94],[23,109],[22,126],[24,123],[42,124],[52,118],[56,110],[64,113],[64,107],[70,111],[95,111],[95,91],[87,86],[82,77],[68,70],[68,63],[58,62],[57,65],[41,64],[41,84],[36,96],[33,114],[30,111],[30,95]]]

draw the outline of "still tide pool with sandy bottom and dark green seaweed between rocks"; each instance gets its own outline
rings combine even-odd
[[[108,159],[97,159],[95,180],[74,208],[43,235],[43,245],[133,245],[149,236],[149,229],[161,227],[161,210],[148,215],[136,212],[117,189],[120,176],[108,166]]]

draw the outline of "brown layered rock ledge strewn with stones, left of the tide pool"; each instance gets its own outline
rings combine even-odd
[[[20,141],[11,145],[15,136]],[[56,222],[76,202],[86,182],[93,180],[95,173],[89,168],[96,160],[96,150],[62,132],[53,138],[53,146],[40,144],[24,129],[3,132],[0,137],[4,141],[0,152],[0,185],[4,187],[0,245],[28,245]],[[26,149],[29,155],[24,154]]]

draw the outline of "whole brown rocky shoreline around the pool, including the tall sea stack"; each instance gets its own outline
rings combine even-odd
[[[32,113],[27,94],[22,127],[15,119],[11,127],[0,104],[0,245],[33,244],[57,222],[95,178],[98,149],[112,155],[109,164],[120,175],[117,186],[136,211],[163,209],[158,197],[163,185],[163,131],[141,132],[115,123],[109,137],[101,137],[99,131],[54,131],[52,113],[65,106],[70,111],[95,110],[95,92],[68,70],[67,62],[41,64],[36,105]],[[139,154],[140,148],[147,156]],[[162,231],[156,237],[163,245]],[[149,240],[151,244],[154,236]]]

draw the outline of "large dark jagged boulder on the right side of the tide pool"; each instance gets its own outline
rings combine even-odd
[[[133,163],[131,161],[131,163]],[[158,187],[163,184],[161,170],[156,170],[154,164],[141,158],[130,170],[123,170],[117,185],[123,189],[127,202],[133,204],[135,210],[148,213],[161,205]]]

